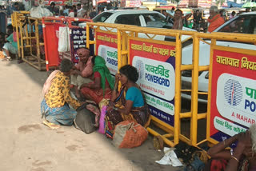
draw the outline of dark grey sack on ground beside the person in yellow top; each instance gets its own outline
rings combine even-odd
[[[95,114],[86,109],[86,104],[78,107],[77,112],[77,116],[74,119],[74,127],[87,134],[94,132],[96,129],[94,126]]]

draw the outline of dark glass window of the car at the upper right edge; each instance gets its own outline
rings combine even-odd
[[[218,32],[256,34],[256,15],[241,15],[222,26]]]

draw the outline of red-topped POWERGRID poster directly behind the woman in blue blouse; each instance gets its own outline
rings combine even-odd
[[[130,38],[129,57],[151,114],[174,126],[175,44]]]

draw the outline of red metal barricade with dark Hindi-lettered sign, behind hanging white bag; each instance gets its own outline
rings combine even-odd
[[[86,37],[86,35],[83,35],[83,34],[86,34],[85,33],[86,29],[80,26],[74,26],[72,23],[73,22],[86,23],[89,21],[91,20],[84,19],[84,18],[66,18],[66,17],[42,18],[43,35],[45,39],[47,71],[49,71],[50,68],[57,68],[62,58],[68,58],[74,63],[78,62],[78,57],[77,57],[78,55],[76,54],[76,50],[81,47],[86,47],[86,38],[83,38],[83,37]],[[62,52],[62,53],[58,52],[58,31],[60,26],[68,27],[70,32],[70,51]]]

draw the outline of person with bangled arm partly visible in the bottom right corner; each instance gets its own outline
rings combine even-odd
[[[226,149],[237,141],[234,149]],[[238,133],[219,142],[208,150],[212,158],[205,170],[256,170],[256,125],[251,125],[245,133]]]

